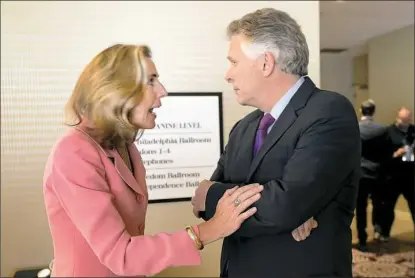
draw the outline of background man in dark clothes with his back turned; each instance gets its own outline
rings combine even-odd
[[[356,204],[356,227],[359,238],[358,249],[366,252],[367,249],[367,200],[371,196],[373,204],[372,222],[375,233],[380,233],[383,216],[379,209],[381,199],[379,192],[383,183],[382,166],[391,157],[387,128],[373,121],[376,106],[373,100],[362,103],[362,114],[359,122],[360,138],[362,140],[361,169],[362,177],[359,182],[359,191]]]

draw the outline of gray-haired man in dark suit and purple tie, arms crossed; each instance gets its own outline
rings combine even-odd
[[[257,213],[224,239],[222,277],[352,277],[352,235],[360,176],[359,127],[351,103],[306,77],[309,51],[300,26],[271,8],[228,26],[226,80],[241,105],[211,177],[193,198],[210,219],[228,188],[264,185]],[[235,202],[238,205],[238,202]],[[318,228],[296,242],[311,217]]]

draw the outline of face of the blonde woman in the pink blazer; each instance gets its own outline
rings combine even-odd
[[[131,123],[141,129],[152,129],[156,126],[154,108],[161,106],[161,98],[167,96],[166,89],[160,83],[156,66],[150,58],[146,58],[148,83],[141,102],[131,112]]]

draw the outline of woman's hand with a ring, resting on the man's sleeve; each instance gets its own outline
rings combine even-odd
[[[238,230],[242,222],[255,214],[255,207],[248,208],[259,200],[263,189],[262,185],[249,184],[227,190],[216,206],[215,215],[199,225],[202,243],[206,245]]]

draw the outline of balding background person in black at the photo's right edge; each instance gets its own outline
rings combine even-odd
[[[406,199],[412,220],[415,223],[414,212],[414,137],[415,127],[412,113],[406,107],[401,107],[394,124],[388,127],[388,136],[393,145],[393,157],[388,165],[390,179],[384,193],[385,206],[383,217],[384,227],[377,238],[387,241],[395,219],[395,205],[402,194]]]

